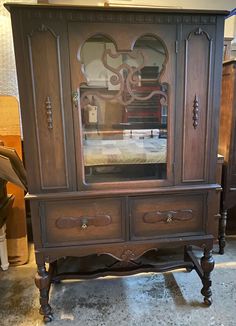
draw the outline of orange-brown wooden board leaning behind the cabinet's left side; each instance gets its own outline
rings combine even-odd
[[[0,96],[0,140],[5,146],[14,148],[22,160],[22,140],[20,130],[19,104],[13,96]],[[7,183],[7,192],[15,196],[11,218],[7,220],[8,258],[12,265],[22,265],[28,261],[28,239],[24,189]]]

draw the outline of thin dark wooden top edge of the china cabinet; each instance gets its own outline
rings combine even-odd
[[[162,8],[162,7],[106,7],[106,6],[78,6],[66,4],[29,4],[29,3],[14,3],[7,2],[4,4],[7,10],[12,8],[32,8],[32,9],[70,9],[70,10],[85,10],[85,11],[126,11],[126,12],[156,12],[169,14],[207,14],[207,15],[228,15],[227,10],[203,10],[203,9],[178,9],[178,8]]]

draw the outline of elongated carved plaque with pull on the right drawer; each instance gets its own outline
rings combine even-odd
[[[172,223],[175,221],[188,221],[193,218],[191,209],[179,211],[153,211],[146,212],[143,215],[144,223]]]

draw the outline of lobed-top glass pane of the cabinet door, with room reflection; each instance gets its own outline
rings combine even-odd
[[[168,85],[160,83],[167,51],[153,36],[117,51],[102,35],[80,53],[86,182],[165,179]]]

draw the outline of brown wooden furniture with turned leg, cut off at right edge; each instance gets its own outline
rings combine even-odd
[[[224,253],[227,210],[236,205],[236,60],[223,63],[219,153],[224,156],[223,193],[219,231],[220,253]]]

